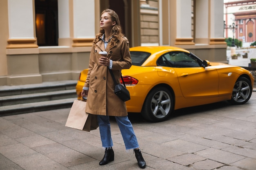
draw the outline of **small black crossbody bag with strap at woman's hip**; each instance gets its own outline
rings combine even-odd
[[[126,86],[125,86],[125,84],[124,84],[124,79],[123,79],[123,76],[122,76],[122,74],[121,74],[121,79],[122,79],[122,81],[123,81],[123,84],[124,84],[124,86],[122,85],[122,84],[117,84],[117,81],[115,80],[115,77],[114,77],[114,75],[113,75],[113,72],[112,72],[112,70],[110,70],[110,68],[108,68],[108,70],[110,71],[110,74],[111,74],[111,76],[112,76],[112,79],[113,79],[113,81],[114,81],[114,83],[115,83],[115,91],[114,91],[114,93],[121,99],[121,100],[123,100],[124,102],[126,102],[127,100],[130,100],[130,92],[127,90],[127,88],[126,88]]]

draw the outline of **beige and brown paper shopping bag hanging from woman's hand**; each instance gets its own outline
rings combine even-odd
[[[74,100],[70,113],[67,117],[65,126],[84,130],[90,132],[90,130],[97,129],[99,127],[97,121],[97,115],[91,115],[85,113],[86,102],[80,100]],[[91,122],[93,118],[93,123]],[[91,127],[92,126],[92,127]]]

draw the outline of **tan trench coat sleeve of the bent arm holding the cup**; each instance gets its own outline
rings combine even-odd
[[[122,37],[119,41],[121,49],[122,60],[113,61],[113,70],[129,69],[132,66],[132,59],[130,55],[129,41],[126,37]]]

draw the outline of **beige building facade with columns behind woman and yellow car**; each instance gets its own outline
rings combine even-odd
[[[223,0],[1,0],[0,86],[78,79],[106,8],[119,14],[130,46],[178,46],[227,62]]]

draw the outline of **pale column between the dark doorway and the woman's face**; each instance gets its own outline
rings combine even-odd
[[[92,46],[95,37],[94,0],[58,0],[59,46]]]

